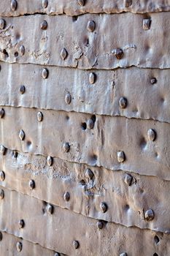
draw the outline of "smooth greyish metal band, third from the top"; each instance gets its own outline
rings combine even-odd
[[[80,70],[0,62],[0,105],[170,122],[169,69]],[[5,86],[4,86],[5,84]],[[25,91],[20,94],[20,86]],[[121,99],[127,100],[121,105]]]

